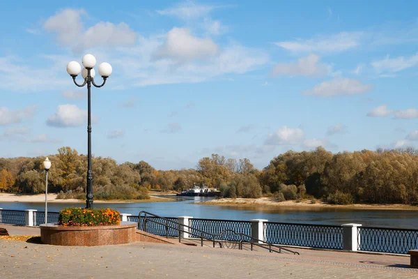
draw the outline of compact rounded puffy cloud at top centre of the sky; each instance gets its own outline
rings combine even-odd
[[[215,56],[218,46],[210,38],[197,38],[189,29],[174,27],[167,33],[167,40],[157,51],[159,58],[190,60]]]

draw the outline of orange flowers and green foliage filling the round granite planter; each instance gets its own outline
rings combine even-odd
[[[67,207],[59,211],[58,223],[64,226],[119,225],[121,214],[113,209],[81,209]]]

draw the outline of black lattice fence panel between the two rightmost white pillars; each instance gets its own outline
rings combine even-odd
[[[264,239],[288,246],[343,249],[343,227],[297,223],[264,223]]]

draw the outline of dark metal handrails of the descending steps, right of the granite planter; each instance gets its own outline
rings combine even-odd
[[[142,216],[142,214],[144,214],[144,216]],[[151,216],[152,219],[147,218],[147,216]],[[286,252],[291,252],[294,255],[300,255],[299,252],[295,252],[295,251],[289,250],[287,248],[283,248],[283,247],[281,247],[277,244],[270,243],[270,242],[267,242],[267,241],[263,241],[261,239],[255,239],[254,237],[249,236],[248,234],[242,234],[242,233],[234,232],[232,229],[226,229],[226,230],[224,230],[224,232],[221,232],[220,234],[211,234],[211,233],[205,232],[201,229],[195,229],[195,228],[190,227],[188,225],[180,224],[176,221],[173,221],[173,220],[170,220],[168,218],[161,217],[161,216],[157,216],[157,215],[155,215],[153,213],[150,213],[150,212],[147,212],[147,211],[139,212],[138,227],[139,227],[139,224],[141,223],[142,218],[144,218],[144,232],[147,232],[147,230],[146,230],[147,229],[147,227],[146,227],[147,222],[153,222],[155,224],[165,226],[165,232],[166,232],[166,237],[167,238],[169,238],[169,234],[168,234],[169,229],[174,229],[174,230],[178,231],[178,242],[179,243],[181,243],[180,232],[185,232],[189,235],[196,236],[197,238],[201,239],[201,246],[203,246],[203,239],[206,239],[207,241],[212,242],[213,248],[215,248],[215,243],[216,242],[219,243],[219,246],[221,248],[224,248],[224,246],[226,246],[227,248],[235,248],[236,243],[238,243],[238,249],[242,250],[242,243],[249,243],[251,245],[251,251],[253,250],[254,246],[257,246],[257,247],[260,247],[260,248],[263,248],[263,249],[267,249],[267,250],[269,250],[269,252],[279,252],[279,253],[281,253],[281,250],[285,250]],[[164,222],[154,220],[154,218],[161,219]],[[170,225],[169,225],[169,223],[170,223]],[[172,226],[171,224],[176,225],[177,227]],[[180,227],[183,227],[183,229],[180,229]],[[188,228],[189,230],[186,231],[184,228]],[[196,234],[195,232],[199,232],[200,234]],[[231,236],[233,236],[234,240],[226,239],[226,237],[225,237],[226,234],[231,234]],[[237,239],[237,237],[238,237],[238,239]],[[222,245],[222,242],[220,242],[220,241],[224,241],[225,245]],[[231,242],[235,243],[235,244],[231,245]]]

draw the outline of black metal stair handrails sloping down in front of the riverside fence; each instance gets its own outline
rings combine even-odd
[[[267,242],[267,241],[263,241],[263,240],[261,240],[261,239],[256,239],[256,238],[254,238],[254,237],[252,237],[252,236],[249,236],[248,234],[243,234],[243,233],[240,233],[240,232],[235,232],[235,231],[233,231],[232,229],[226,229],[226,230],[224,230],[223,232],[221,232],[220,234],[211,234],[211,233],[209,233],[209,232],[205,232],[205,231],[203,231],[203,230],[201,230],[201,229],[195,229],[195,228],[193,228],[193,227],[190,227],[190,226],[188,226],[188,225],[183,225],[183,224],[180,224],[180,223],[178,223],[178,222],[176,222],[176,221],[173,221],[173,220],[170,220],[170,219],[168,219],[168,218],[164,218],[164,217],[161,217],[161,216],[157,216],[157,215],[155,215],[155,214],[153,214],[153,213],[150,213],[150,212],[147,212],[147,211],[141,211],[141,212],[139,212],[139,214],[138,214],[138,221],[139,222],[141,222],[141,214],[142,213],[144,213],[144,218],[145,218],[145,220],[146,220],[146,216],[147,215],[150,215],[150,216],[153,216],[153,217],[155,217],[155,218],[160,218],[160,219],[162,219],[162,220],[165,220],[166,222],[165,223],[162,223],[162,222],[158,222],[157,220],[150,220],[151,222],[153,222],[153,223],[157,223],[157,224],[160,224],[160,225],[164,225],[164,226],[166,226],[166,228],[167,227],[169,227],[169,228],[171,228],[171,229],[176,229],[176,230],[178,230],[178,232],[186,232],[186,233],[188,233],[188,234],[191,234],[191,235],[194,235],[194,236],[197,236],[197,237],[199,237],[200,239],[201,239],[201,246],[203,246],[203,239],[206,239],[206,240],[208,240],[208,241],[212,241],[213,242],[213,247],[215,248],[215,241],[216,241],[216,239],[217,238],[219,238],[219,236],[222,236],[222,234],[224,234],[225,232],[233,232],[233,234],[236,234],[236,235],[238,235],[238,236],[240,236],[240,241],[239,241],[239,249],[240,250],[242,250],[242,242],[247,242],[247,243],[250,243],[251,244],[251,250],[253,250],[253,246],[258,246],[258,247],[260,247],[260,248],[264,248],[264,249],[267,249],[267,250],[269,250],[270,252],[281,252],[281,250],[285,250],[285,251],[287,251],[287,252],[291,252],[291,253],[293,253],[294,255],[300,255],[299,254],[299,252],[295,252],[295,251],[292,251],[292,250],[289,250],[289,249],[286,249],[286,248],[283,248],[283,247],[281,247],[281,246],[278,246],[278,245],[276,245],[276,244],[274,244],[274,243],[270,243],[270,242]],[[171,227],[170,225],[168,225],[168,223],[169,222],[171,222],[171,223],[174,223],[174,224],[176,224],[176,225],[179,225],[179,227],[177,228],[177,227]],[[189,229],[192,229],[192,230],[194,230],[194,231],[197,231],[197,232],[201,232],[201,234],[199,235],[199,234],[194,234],[193,232],[190,232],[190,231],[185,231],[184,229],[180,229],[180,226],[182,226],[182,227],[187,227],[187,228],[189,228]],[[146,229],[146,223],[144,222],[144,229]],[[145,232],[146,232],[146,230],[145,230]],[[208,238],[208,237],[205,237],[205,236],[203,236],[203,234],[206,234],[206,235],[208,235],[208,236],[212,236],[212,239],[210,239],[210,238]],[[245,238],[247,238],[247,239],[251,239],[251,241],[245,241]],[[178,234],[178,241],[179,242],[181,242],[180,241],[180,239],[181,239],[181,235],[180,235],[180,233]],[[253,241],[256,241],[256,242],[253,242]],[[266,246],[263,246],[263,244],[261,244],[261,243],[258,243],[258,242],[262,242],[262,243],[264,243],[264,245],[268,245],[268,247],[266,247]],[[220,245],[221,245],[221,247],[222,247],[222,244],[221,243],[219,243]],[[279,248],[279,250],[276,250],[276,249],[274,249],[274,248],[272,248],[272,247],[274,247],[274,248]]]

